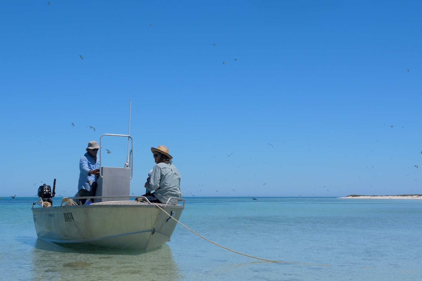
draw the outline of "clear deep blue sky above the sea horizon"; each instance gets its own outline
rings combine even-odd
[[[87,143],[128,133],[130,99],[135,195],[159,145],[185,196],[422,194],[421,10],[1,1],[0,196],[54,178],[74,195]],[[122,167],[126,145],[104,139],[104,165]]]

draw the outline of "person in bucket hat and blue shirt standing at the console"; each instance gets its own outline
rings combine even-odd
[[[100,146],[96,141],[90,141],[86,153],[79,161],[78,196],[93,196],[92,183],[100,174],[100,157],[97,156]]]

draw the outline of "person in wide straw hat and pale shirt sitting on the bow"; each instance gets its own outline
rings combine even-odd
[[[152,147],[151,152],[157,165],[152,169],[149,181],[147,180],[145,183],[146,194],[144,196],[151,203],[165,204],[168,201],[169,204],[176,205],[178,200],[171,197],[180,198],[182,192],[180,190],[181,176],[171,161],[173,157],[168,154],[168,149],[165,146]]]

